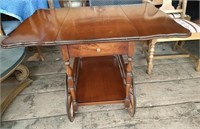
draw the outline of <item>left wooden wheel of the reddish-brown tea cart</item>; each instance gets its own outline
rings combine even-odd
[[[67,78],[67,77],[66,77]],[[74,121],[75,117],[75,111],[74,111],[74,106],[73,106],[73,100],[72,100],[72,95],[68,91],[68,85],[66,82],[66,89],[65,89],[65,95],[66,95],[66,110],[67,110],[67,116],[71,122]]]

